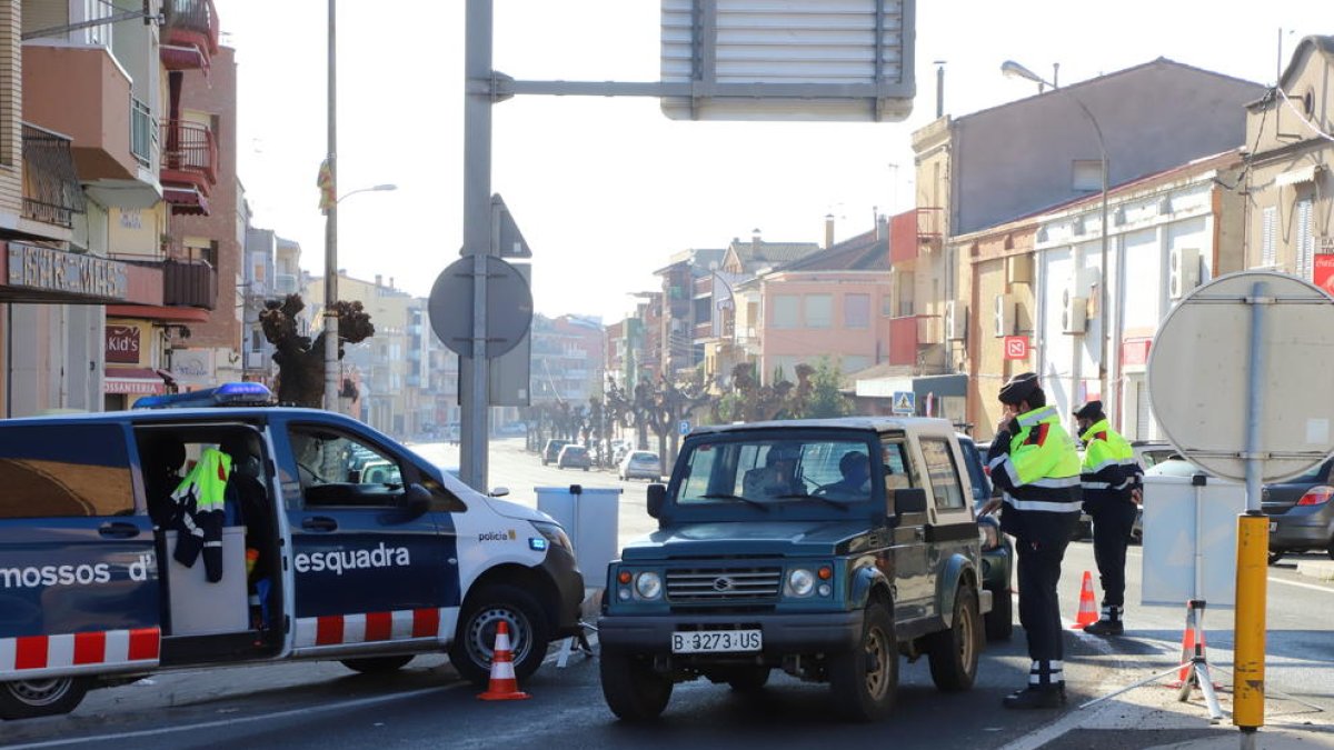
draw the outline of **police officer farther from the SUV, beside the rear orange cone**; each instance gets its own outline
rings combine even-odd
[[[1093,518],[1093,554],[1102,577],[1102,617],[1085,629],[1094,635],[1121,635],[1126,602],[1126,544],[1135,523],[1143,470],[1130,443],[1107,424],[1102,402],[1075,411],[1085,443],[1081,472],[1085,512]]]

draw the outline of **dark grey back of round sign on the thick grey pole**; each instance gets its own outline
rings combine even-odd
[[[495,359],[519,346],[532,324],[532,291],[514,266],[494,255],[486,256],[487,359]],[[427,311],[431,328],[444,346],[459,356],[472,356],[472,280],[476,258],[464,256],[440,271],[431,287]]]

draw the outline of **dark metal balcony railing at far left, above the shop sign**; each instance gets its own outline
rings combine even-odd
[[[23,216],[69,228],[84,207],[69,139],[23,123]]]

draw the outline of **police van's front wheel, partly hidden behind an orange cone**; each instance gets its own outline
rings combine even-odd
[[[500,622],[510,630],[516,678],[532,675],[547,655],[551,639],[547,615],[532,594],[506,583],[486,586],[468,595],[450,647],[450,663],[474,685],[484,686],[491,677],[491,654]]]

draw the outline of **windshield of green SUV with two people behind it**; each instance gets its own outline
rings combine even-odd
[[[878,447],[878,446],[876,446]],[[883,466],[872,443],[850,438],[755,438],[696,443],[686,456],[679,506],[850,504],[871,499]]]

